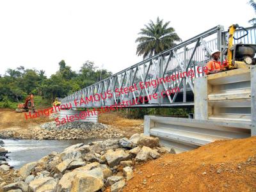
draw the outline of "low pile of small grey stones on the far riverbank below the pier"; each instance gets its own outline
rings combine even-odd
[[[55,122],[47,122],[40,126],[31,127],[28,131],[17,132],[5,130],[0,132],[0,138],[35,139],[35,140],[81,140],[121,138],[119,129],[104,124],[92,122],[70,122],[56,127]]]

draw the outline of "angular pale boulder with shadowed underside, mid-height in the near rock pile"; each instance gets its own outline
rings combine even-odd
[[[125,153],[124,149],[118,148],[115,151],[112,149],[108,150],[105,154],[106,161],[110,167],[118,165],[121,161],[129,159],[131,156]]]

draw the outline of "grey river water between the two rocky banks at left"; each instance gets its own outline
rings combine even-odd
[[[15,169],[26,163],[38,161],[52,151],[62,152],[70,145],[90,143],[95,140],[3,140],[4,148],[10,152],[7,156],[10,166]]]

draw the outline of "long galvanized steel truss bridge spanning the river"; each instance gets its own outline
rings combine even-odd
[[[239,42],[234,40],[234,44],[240,42],[256,44],[256,28],[247,28],[247,30],[248,35],[241,38]],[[243,30],[238,29],[235,36],[239,37],[244,34]],[[61,104],[72,104],[72,108],[100,108],[143,98],[141,102],[128,107],[192,107],[194,105],[195,78],[205,76],[203,67],[209,61],[212,50],[219,49],[222,52],[227,48],[227,36],[228,32],[224,31],[223,26],[216,26],[140,63],[125,68],[107,79],[68,95],[61,99]],[[221,61],[223,58],[221,55]],[[193,71],[194,76],[188,75],[189,71]],[[180,74],[183,76],[180,77]],[[140,87],[140,83],[146,84],[146,82],[161,78],[167,79],[168,76],[179,76],[179,78],[163,81],[156,86]],[[136,90],[124,94],[116,93],[116,88],[119,90],[120,88],[129,88],[134,84],[136,84]],[[168,90],[173,90],[173,88],[179,91],[166,94]],[[99,95],[105,93],[111,94],[112,97],[99,99]],[[157,93],[157,98],[148,99],[154,93]],[[95,95],[97,95],[97,99],[92,99]],[[86,97],[89,100],[84,99]],[[79,102],[81,98],[86,102],[75,104],[74,100]]]

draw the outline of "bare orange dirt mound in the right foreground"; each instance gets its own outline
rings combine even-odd
[[[215,141],[136,166],[124,191],[256,191],[256,137]]]

